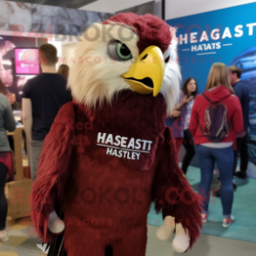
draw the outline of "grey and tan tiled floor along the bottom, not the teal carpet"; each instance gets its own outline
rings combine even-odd
[[[158,227],[148,226],[148,244],[146,256],[179,256],[172,249],[172,238],[160,241],[156,237]],[[37,249],[37,236],[30,219],[9,222],[9,241],[0,243],[0,256],[46,256]],[[256,243],[235,239],[224,239],[209,235],[201,235],[187,256],[252,256],[256,251]],[[119,255],[118,255],[119,256]],[[121,256],[121,255],[120,255]]]

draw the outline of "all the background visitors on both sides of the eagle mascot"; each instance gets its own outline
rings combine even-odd
[[[14,131],[16,127],[12,111],[22,109],[25,135],[30,143],[31,177],[35,180],[44,138],[61,106],[72,100],[71,92],[66,90],[69,67],[63,64],[56,70],[56,48],[43,44],[39,52],[42,73],[24,85],[22,104],[17,103],[15,94],[7,91],[0,80],[0,239],[3,241],[8,239],[4,186],[8,173],[11,176],[11,148],[6,131]],[[233,191],[236,188],[233,176],[246,178],[248,165],[248,90],[240,77],[241,71],[236,66],[227,68],[225,64],[213,64],[205,91],[200,95],[196,79],[187,78],[180,91],[179,104],[172,111],[172,117],[166,118],[166,125],[172,128],[177,151],[181,145],[185,148],[181,165],[184,175],[198,153],[201,173],[199,194],[204,199],[204,223],[209,214],[209,192],[217,164],[223,226],[226,227],[235,219],[232,216]],[[235,172],[238,155],[240,170]],[[37,246],[43,248],[40,240]]]

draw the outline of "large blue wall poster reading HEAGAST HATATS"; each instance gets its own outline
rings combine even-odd
[[[250,134],[247,175],[256,179],[256,3],[213,10],[166,22],[177,27],[183,81],[194,77],[205,90],[213,63],[237,65],[249,89]],[[166,10],[168,11],[168,10]]]

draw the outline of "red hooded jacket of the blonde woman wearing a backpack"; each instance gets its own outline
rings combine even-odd
[[[222,104],[226,105],[227,113],[226,120],[227,124],[231,122],[232,128],[229,134],[222,142],[233,142],[234,149],[236,148],[236,134],[243,131],[243,114],[239,98],[232,95],[226,87],[219,85],[213,90],[205,91],[205,96],[209,98],[212,102],[220,101]],[[192,115],[189,130],[192,133],[194,142],[196,145],[204,144],[210,142],[202,134],[199,128],[200,125],[205,128],[205,110],[209,107],[210,103],[203,95],[199,95],[193,104]]]

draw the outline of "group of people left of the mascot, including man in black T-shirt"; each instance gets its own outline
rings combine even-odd
[[[16,122],[13,111],[22,111],[25,141],[30,144],[30,170],[33,180],[37,176],[37,164],[43,149],[44,138],[51,129],[54,118],[61,106],[72,100],[66,90],[69,66],[58,62],[57,49],[52,44],[39,48],[42,73],[31,78],[24,86],[22,104],[16,101],[15,93],[8,91],[0,79],[0,240],[8,239],[6,217],[8,204],[4,194],[6,181],[13,180],[13,141],[6,131],[14,131]],[[7,179],[8,177],[8,179]],[[43,249],[39,239],[37,246]]]

